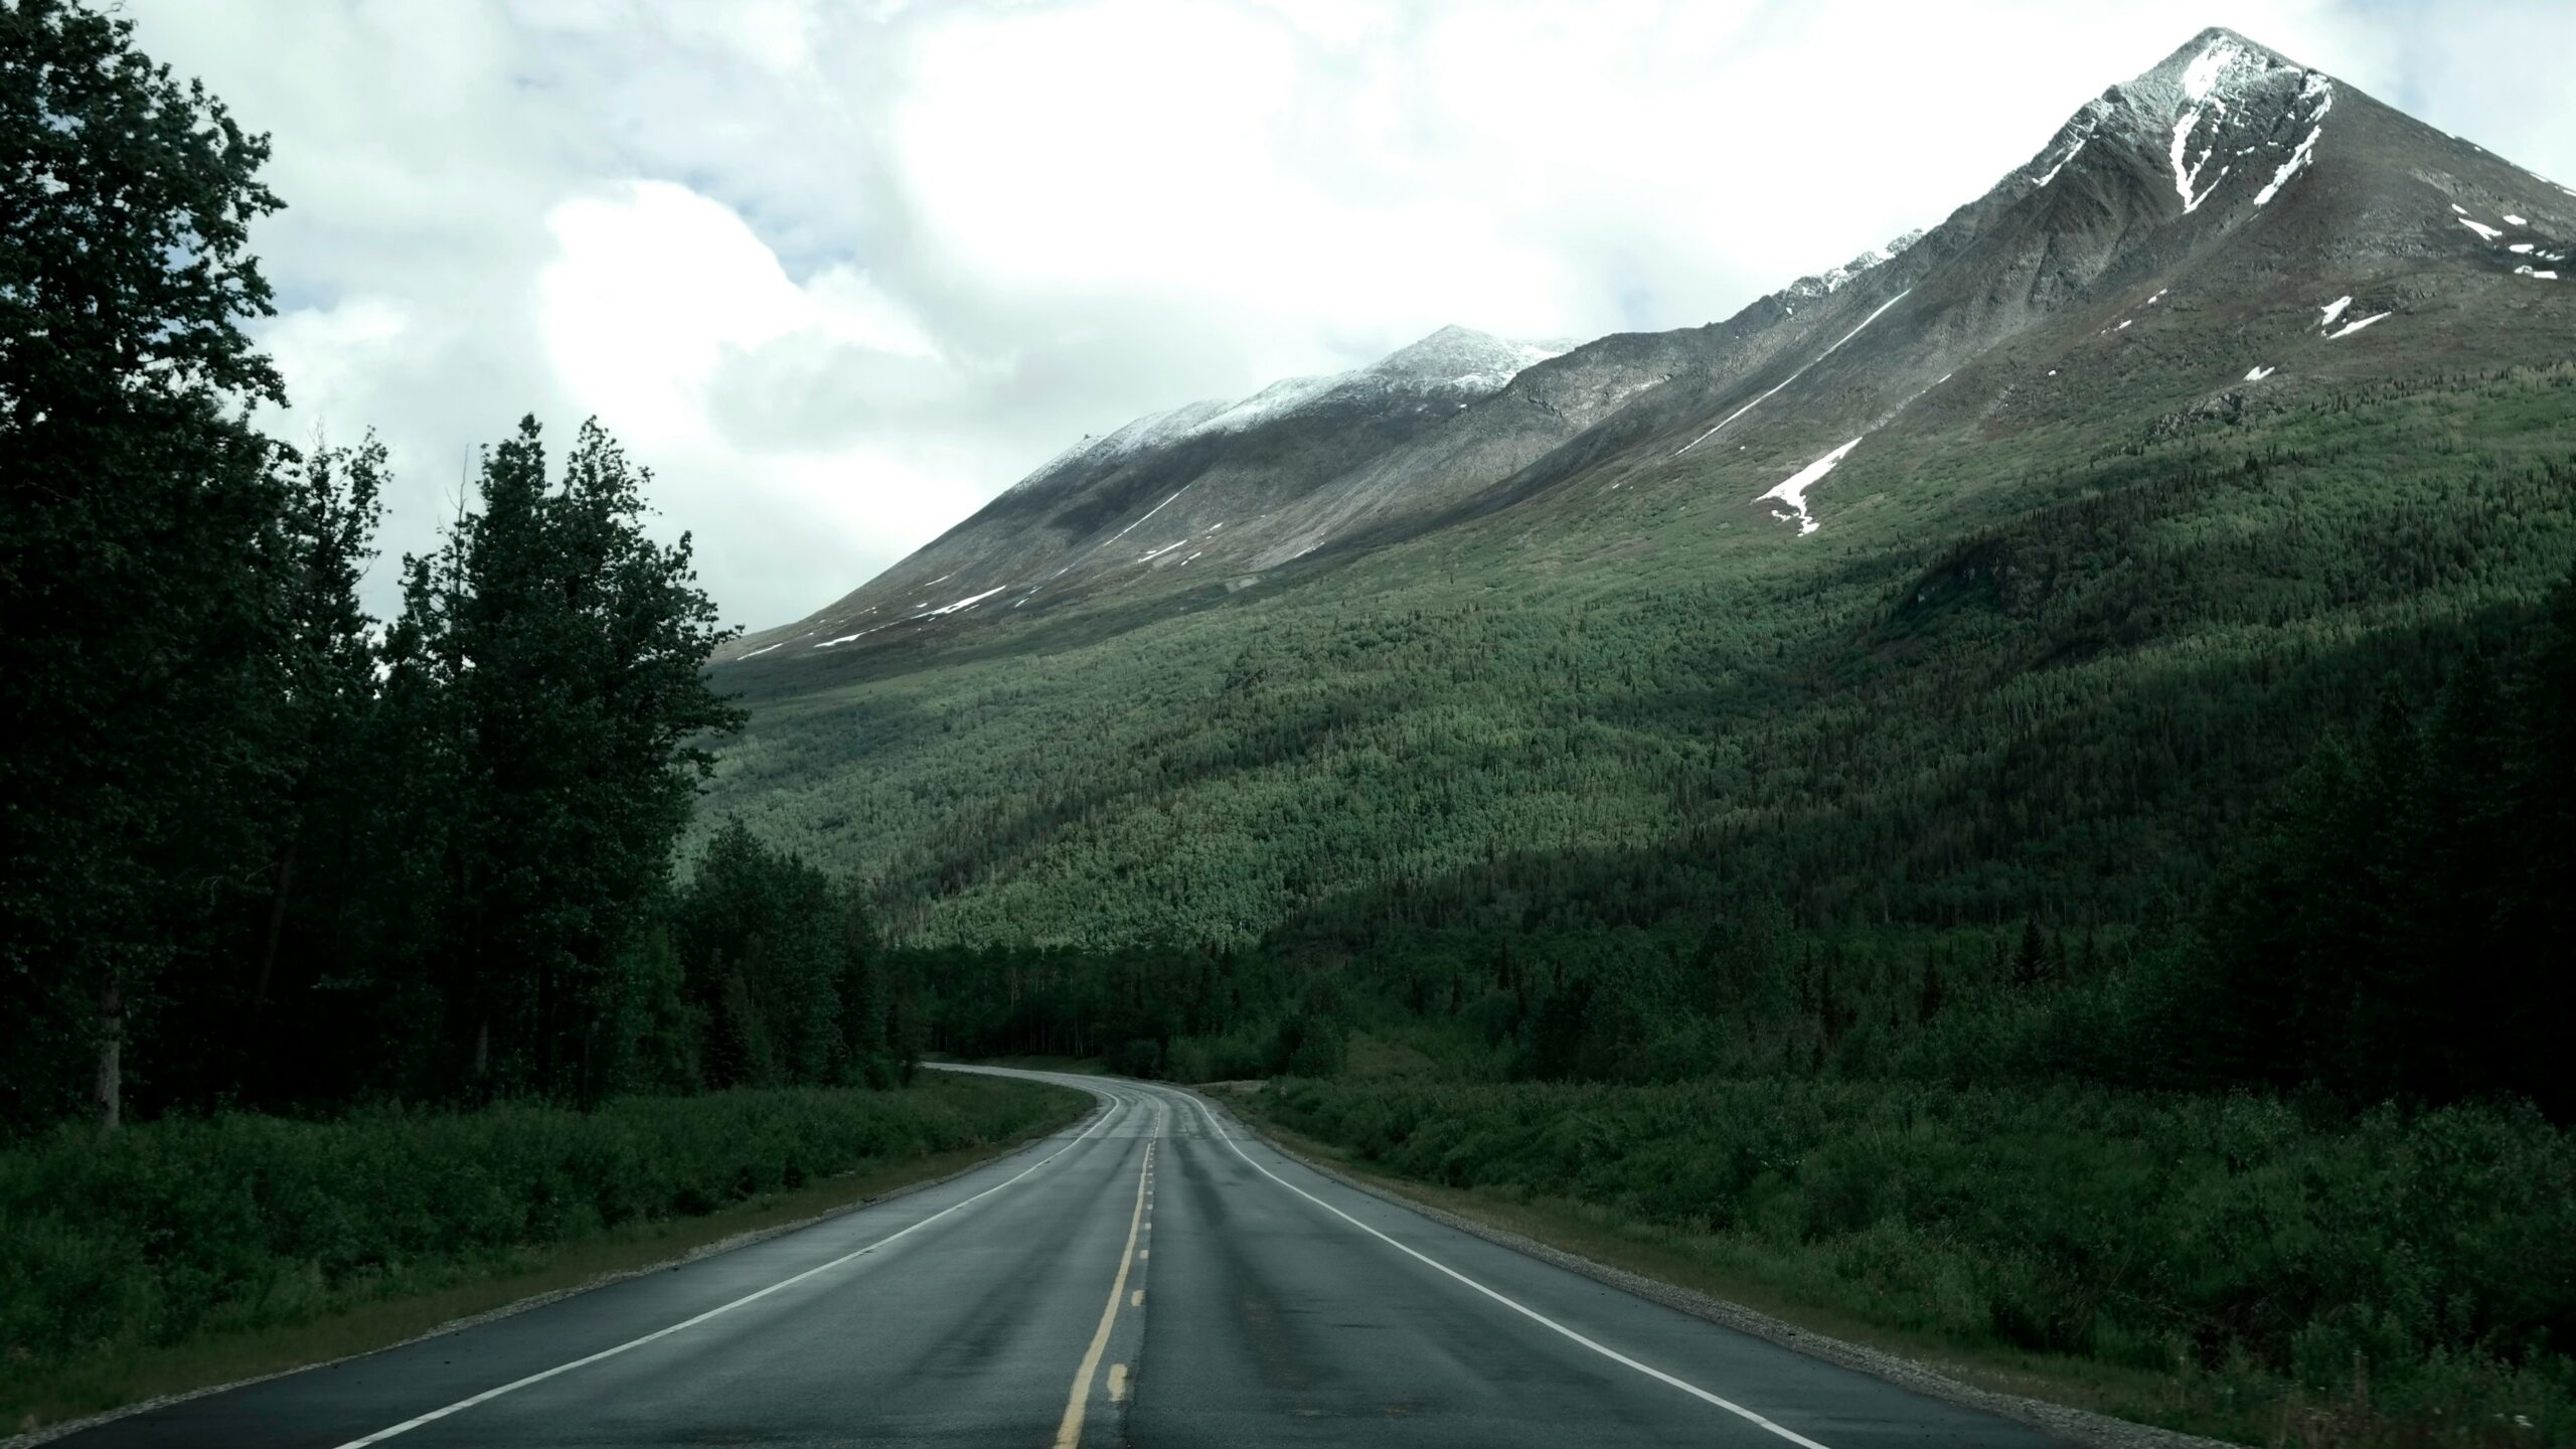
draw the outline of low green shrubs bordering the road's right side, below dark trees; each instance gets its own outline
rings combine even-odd
[[[2259,1098],[1795,1080],[1252,1101],[1412,1178],[1607,1209],[1808,1307],[2174,1374],[2141,1418],[2576,1436],[2576,1140],[2524,1106],[2321,1127]],[[2486,1436],[2517,1413],[2527,1431]]]

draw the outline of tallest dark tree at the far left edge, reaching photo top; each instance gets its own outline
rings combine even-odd
[[[129,21],[0,5],[0,1013],[82,1044],[108,1124],[129,1011],[265,853],[265,160]],[[62,1111],[72,1073],[10,1073],[0,1114]]]

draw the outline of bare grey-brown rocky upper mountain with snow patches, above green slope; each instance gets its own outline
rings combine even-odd
[[[2223,425],[2298,389],[2558,361],[2576,193],[2233,31],[2084,103],[1937,227],[1723,322],[1443,327],[1365,369],[1084,438],[739,668],[1079,601],[1182,608],[1553,490],[1741,500],[1783,547],[1960,428]]]

